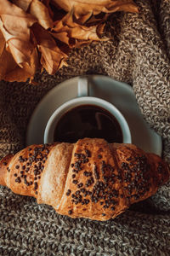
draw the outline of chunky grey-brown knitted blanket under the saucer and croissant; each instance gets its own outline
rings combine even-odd
[[[0,157],[25,147],[38,102],[56,84],[104,74],[133,86],[144,119],[163,141],[170,164],[170,1],[136,0],[139,14],[108,20],[107,42],[73,49],[68,67],[37,73],[38,85],[0,82]],[[170,255],[170,183],[106,222],[59,216],[33,198],[0,186],[0,255]]]

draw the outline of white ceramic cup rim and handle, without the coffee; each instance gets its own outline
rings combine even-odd
[[[109,113],[116,118],[122,129],[122,143],[132,143],[131,132],[122,113],[110,102],[98,97],[88,96],[87,77],[80,77],[78,79],[77,98],[62,104],[48,119],[48,124],[46,125],[44,132],[44,143],[54,143],[54,131],[59,119],[63,116],[63,114],[70,111],[72,108],[76,108],[81,105],[99,106],[100,108],[104,108],[105,110],[109,111]]]

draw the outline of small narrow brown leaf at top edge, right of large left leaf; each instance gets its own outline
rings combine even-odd
[[[44,28],[48,29],[48,27],[53,26],[53,20],[49,15],[48,7],[39,0],[14,0],[13,2],[18,7],[37,18],[38,23]],[[46,4],[48,5],[47,1]]]

